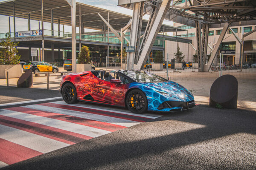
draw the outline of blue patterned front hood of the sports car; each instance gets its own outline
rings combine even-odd
[[[193,94],[184,88],[182,85],[168,81],[168,82],[155,82],[155,83],[143,83],[145,88],[150,88],[153,91],[168,98],[168,100],[176,101],[191,101],[194,100]],[[156,94],[154,94],[155,96]]]

